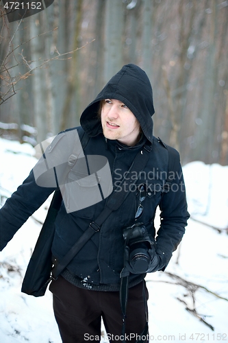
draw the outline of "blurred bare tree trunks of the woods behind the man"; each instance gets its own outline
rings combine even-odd
[[[55,0],[13,23],[0,10],[1,137],[36,145],[79,125],[135,63],[153,86],[155,136],[183,164],[228,164],[228,1]]]

